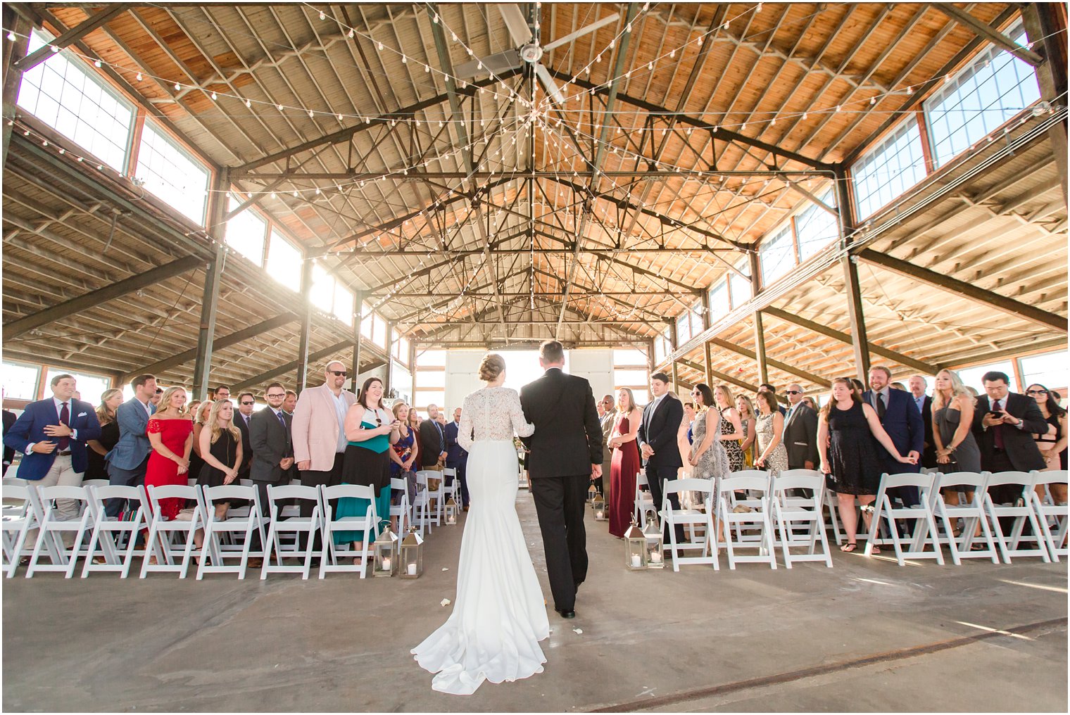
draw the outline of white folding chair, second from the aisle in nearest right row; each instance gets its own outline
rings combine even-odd
[[[736,492],[746,491],[740,498]],[[724,550],[729,558],[729,568],[736,563],[767,563],[777,567],[777,552],[774,548],[773,522],[769,519],[771,501],[769,497],[769,473],[756,469],[732,472],[717,481],[717,518],[724,531]],[[746,506],[747,511],[737,511]],[[756,535],[745,535],[749,524],[758,529]],[[753,548],[756,553],[736,556],[736,549]]]

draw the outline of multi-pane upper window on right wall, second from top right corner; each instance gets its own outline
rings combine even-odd
[[[858,217],[865,218],[890,203],[926,176],[921,133],[914,117],[852,167]]]

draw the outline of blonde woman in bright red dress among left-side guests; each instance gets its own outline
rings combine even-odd
[[[186,391],[168,387],[159,398],[159,408],[149,420],[146,432],[152,453],[144,471],[144,486],[184,485],[189,470],[189,452],[194,445],[194,424],[185,411]],[[184,506],[184,499],[164,499],[160,514],[173,519]]]

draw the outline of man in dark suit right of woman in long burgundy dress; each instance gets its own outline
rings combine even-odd
[[[684,405],[669,393],[669,376],[655,372],[651,376],[651,394],[654,399],[643,409],[639,425],[639,453],[646,467],[646,481],[651,484],[654,507],[661,508],[661,487],[666,480],[675,480],[676,471],[684,466],[676,445],[679,423],[684,420]],[[672,508],[679,508],[676,495],[669,495]],[[666,533],[666,541],[669,534]],[[676,543],[684,542],[684,527],[676,524]]]

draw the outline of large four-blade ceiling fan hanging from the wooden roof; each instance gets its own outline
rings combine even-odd
[[[509,70],[521,67],[524,62],[528,62],[534,65],[535,74],[538,76],[539,81],[542,82],[546,93],[557,104],[565,103],[565,95],[562,94],[557,82],[553,80],[550,71],[539,61],[542,59],[542,55],[562,45],[567,45],[577,37],[615,22],[621,17],[620,13],[607,15],[586,27],[580,28],[576,32],[569,32],[563,37],[557,37],[545,45],[539,45],[538,35],[529,26],[523,11],[520,10],[520,5],[517,3],[500,4],[498,5],[498,11],[502,13],[502,19],[505,20],[505,27],[508,28],[509,35],[513,37],[516,47],[507,49],[504,52],[495,52],[488,57],[459,64],[454,69],[455,74],[459,79],[472,79],[489,74],[500,75]]]

